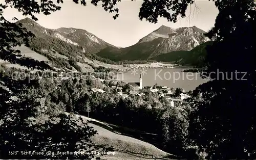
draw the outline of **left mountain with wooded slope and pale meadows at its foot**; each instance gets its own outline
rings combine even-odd
[[[114,65],[116,63],[109,59],[95,55],[94,53],[100,49],[113,45],[106,43],[86,30],[73,28],[47,29],[30,18],[19,20],[16,23],[22,23],[23,27],[35,35],[30,37],[28,42],[20,40],[25,46],[15,48],[19,49],[25,57],[45,61],[55,68],[72,71],[93,71],[98,66],[116,69],[125,68]]]

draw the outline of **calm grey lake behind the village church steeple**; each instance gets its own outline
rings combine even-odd
[[[208,80],[200,77],[200,73],[182,72],[189,68],[160,68],[160,69],[135,69],[116,75],[118,81],[140,82],[142,75],[142,86],[168,86],[170,88],[183,88],[184,90],[194,90],[199,85]]]

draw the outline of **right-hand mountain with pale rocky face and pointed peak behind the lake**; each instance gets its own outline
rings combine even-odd
[[[162,25],[135,45],[125,48],[108,46],[96,55],[113,61],[150,60],[172,51],[191,50],[210,40],[204,34],[196,26],[173,29]]]

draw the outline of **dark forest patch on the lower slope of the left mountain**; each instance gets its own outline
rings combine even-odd
[[[26,46],[30,47],[38,54],[47,57],[53,66],[57,68],[67,68],[72,70],[72,67],[74,67],[77,71],[81,71],[81,67],[77,62],[87,63],[83,60],[84,58],[108,64],[116,64],[111,60],[98,57],[95,54],[84,53],[82,47],[70,45],[65,41],[56,38],[49,38],[48,41],[46,41],[43,38],[32,37],[26,42]],[[68,59],[56,57],[55,53],[66,56]]]

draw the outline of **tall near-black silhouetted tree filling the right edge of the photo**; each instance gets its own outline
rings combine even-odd
[[[216,1],[216,6],[220,12],[207,34],[216,41],[206,48],[203,72],[212,81],[196,89],[202,100],[194,102],[190,138],[207,158],[255,159],[255,2]]]

